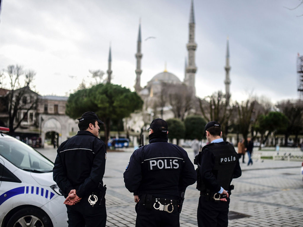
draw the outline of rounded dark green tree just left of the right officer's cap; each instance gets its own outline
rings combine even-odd
[[[192,115],[188,116],[184,120],[185,125],[185,139],[201,140],[204,134],[204,128],[206,125],[206,121],[203,117]]]

